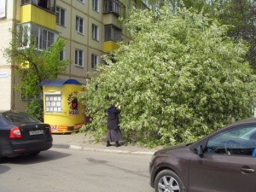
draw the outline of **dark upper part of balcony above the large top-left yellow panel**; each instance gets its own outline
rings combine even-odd
[[[56,0],[21,0],[21,5],[33,4],[55,14]]]

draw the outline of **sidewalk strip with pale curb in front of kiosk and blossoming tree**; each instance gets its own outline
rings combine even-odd
[[[120,147],[114,146],[106,147],[106,139],[102,138],[100,143],[95,143],[95,138],[85,133],[65,133],[65,134],[52,134],[53,137],[53,148],[71,148],[77,150],[90,150],[100,151],[108,153],[119,153],[119,154],[154,154],[155,151],[162,147],[157,148],[145,148],[137,144],[125,143],[120,141]]]

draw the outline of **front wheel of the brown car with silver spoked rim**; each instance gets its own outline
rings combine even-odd
[[[175,172],[161,171],[154,180],[155,192],[183,192],[183,183]]]

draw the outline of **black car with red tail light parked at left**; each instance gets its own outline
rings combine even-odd
[[[0,111],[0,158],[39,154],[52,147],[50,126],[25,112]]]

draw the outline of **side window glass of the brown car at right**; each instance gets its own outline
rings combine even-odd
[[[207,154],[253,155],[256,148],[255,125],[232,128],[211,137],[207,143]]]

